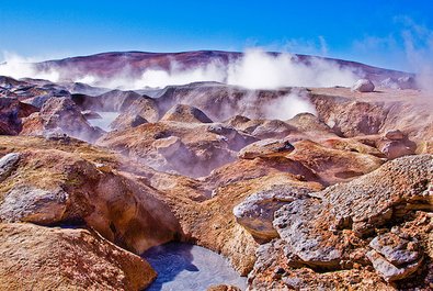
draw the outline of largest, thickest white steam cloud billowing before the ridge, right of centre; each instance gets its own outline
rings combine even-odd
[[[183,70],[176,63],[170,71],[146,70],[135,89],[183,85],[195,81],[218,81],[248,89],[277,89],[282,87],[333,87],[352,86],[357,75],[354,69],[340,68],[337,63],[322,58],[311,58],[305,64],[296,56],[284,53],[270,55],[262,49],[249,49],[244,56],[228,66],[210,63]]]

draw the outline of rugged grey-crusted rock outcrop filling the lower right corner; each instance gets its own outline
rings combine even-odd
[[[386,289],[381,278],[429,288],[431,269],[420,277],[420,266],[431,242],[432,180],[433,157],[408,156],[283,205],[273,221],[280,238],[259,248],[252,288]]]

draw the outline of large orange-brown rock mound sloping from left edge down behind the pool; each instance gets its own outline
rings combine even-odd
[[[11,210],[3,216],[4,222],[8,217],[25,221],[30,217],[26,211],[39,211],[41,215],[31,216],[35,224],[88,225],[117,246],[137,254],[150,246],[181,239],[224,254],[244,276],[253,266],[257,243],[236,224],[231,211],[250,191],[269,182],[250,181],[209,199],[205,183],[157,172],[73,138],[59,143],[39,137],[2,136],[0,145],[1,152],[14,149],[21,156],[16,168],[0,183],[0,204]],[[44,190],[44,194],[62,189],[68,195],[65,201],[55,200],[56,204],[53,200],[35,198],[7,200],[7,194],[21,184]],[[47,216],[42,214],[52,205],[53,213],[64,214],[60,220],[59,215],[48,217],[53,220],[47,223]],[[55,212],[56,209],[59,211]]]

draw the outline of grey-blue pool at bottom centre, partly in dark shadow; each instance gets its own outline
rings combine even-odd
[[[146,290],[201,291],[221,283],[247,288],[247,278],[240,277],[223,256],[204,247],[169,243],[150,248],[144,258],[158,272]]]

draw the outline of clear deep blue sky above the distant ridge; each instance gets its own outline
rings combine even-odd
[[[0,0],[0,52],[44,59],[261,46],[411,70],[432,27],[431,1]]]

